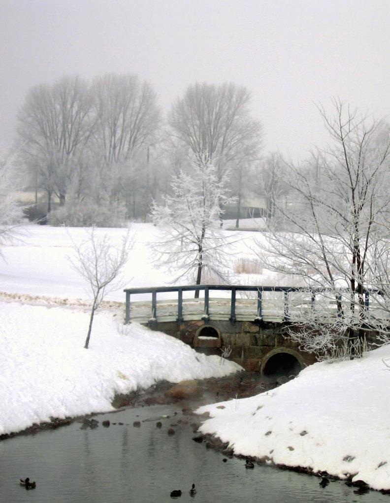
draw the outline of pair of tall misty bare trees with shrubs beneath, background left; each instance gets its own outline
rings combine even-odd
[[[47,214],[57,197],[52,223],[112,225],[139,217],[159,123],[155,93],[136,75],[107,74],[91,83],[63,77],[32,88],[16,143],[30,185],[46,194]]]

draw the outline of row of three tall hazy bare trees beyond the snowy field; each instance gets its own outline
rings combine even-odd
[[[17,121],[20,170],[26,185],[45,194],[53,224],[145,221],[193,162],[215,166],[240,199],[262,139],[249,105],[243,87],[196,83],[164,118],[155,91],[137,75],[65,76],[27,93]]]

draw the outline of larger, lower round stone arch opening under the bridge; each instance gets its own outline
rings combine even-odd
[[[305,367],[305,360],[298,351],[289,348],[275,348],[261,360],[260,373],[262,375],[296,375]]]

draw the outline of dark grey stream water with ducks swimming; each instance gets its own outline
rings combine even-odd
[[[179,413],[174,416],[174,411]],[[150,417],[169,414],[162,428]],[[152,406],[96,416],[99,421],[123,422],[96,429],[80,429],[79,423],[36,435],[0,442],[0,501],[5,503],[164,503],[170,492],[181,489],[180,503],[376,503],[390,497],[375,491],[356,495],[343,482],[319,486],[320,479],[282,471],[270,466],[244,467],[240,459],[224,456],[193,442],[180,408]],[[141,427],[133,427],[141,421]],[[188,417],[189,423],[191,416]],[[26,491],[20,477],[36,480]],[[191,484],[197,494],[191,496]]]

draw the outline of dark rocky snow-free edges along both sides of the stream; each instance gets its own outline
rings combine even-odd
[[[244,384],[243,384],[244,383]],[[185,388],[188,394],[176,394],[172,395],[171,390],[178,390],[179,388]],[[263,388],[265,387],[265,391]],[[236,375],[231,375],[222,378],[209,378],[196,381],[185,381],[184,383],[179,383],[179,385],[174,385],[167,381],[161,381],[156,383],[147,390],[131,392],[128,394],[121,394],[115,396],[113,400],[113,406],[117,407],[115,410],[118,412],[118,420],[116,420],[116,414],[113,415],[112,412],[108,414],[87,414],[84,416],[78,416],[73,418],[65,418],[62,420],[52,419],[49,423],[42,423],[40,425],[33,425],[30,428],[18,432],[17,434],[10,434],[3,436],[2,440],[5,438],[12,438],[22,435],[34,435],[45,430],[54,430],[62,426],[69,426],[72,423],[79,423],[79,428],[81,430],[88,430],[95,428],[128,428],[133,426],[134,428],[142,427],[143,423],[153,423],[157,428],[162,428],[162,434],[168,434],[168,436],[175,435],[181,429],[183,432],[187,432],[192,440],[198,444],[201,444],[206,450],[215,450],[221,454],[221,460],[226,461],[227,459],[238,458],[238,459],[249,459],[254,463],[255,467],[268,465],[274,466],[280,470],[295,471],[298,473],[305,473],[310,476],[318,478],[319,482],[325,480],[325,484],[332,483],[335,481],[344,480],[347,486],[351,487],[351,490],[355,494],[365,494],[369,491],[369,485],[359,478],[354,478],[353,474],[346,474],[345,477],[339,477],[334,474],[329,474],[325,471],[319,470],[314,471],[311,467],[305,466],[293,466],[286,465],[282,463],[275,463],[272,456],[247,456],[244,454],[237,454],[235,452],[234,446],[230,444],[229,441],[223,441],[220,437],[215,434],[202,433],[202,424],[208,421],[210,417],[209,412],[203,412],[202,415],[196,413],[195,411],[199,409],[200,406],[205,406],[205,404],[210,404],[216,399],[222,399],[227,404],[231,410],[238,409],[240,407],[240,400],[243,398],[255,397],[258,394],[258,390],[262,389],[264,393],[268,393],[271,390],[276,392],[277,383],[270,381],[265,381],[264,378],[258,373],[241,372]],[[196,392],[198,389],[198,392]],[[199,389],[201,392],[199,392]],[[195,395],[195,396],[194,396]],[[147,415],[146,419],[134,424],[127,424],[121,421],[121,412],[127,409],[137,409],[140,408],[147,409],[153,406],[166,406],[168,408],[173,408],[175,412],[169,416],[157,417],[152,413]],[[216,404],[219,410],[224,410],[221,408],[223,405],[221,403]],[[198,410],[199,412],[199,410]],[[107,420],[110,417],[111,421]],[[99,420],[96,420],[99,418]],[[122,430],[120,430],[122,431]],[[321,489],[322,486],[320,486]],[[380,489],[379,492],[382,494],[390,494],[389,489]]]

